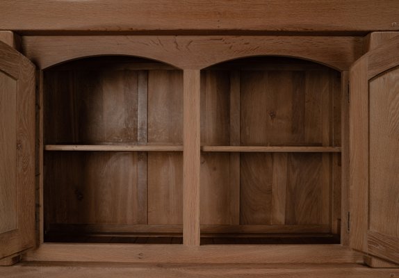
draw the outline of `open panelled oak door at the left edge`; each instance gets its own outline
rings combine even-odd
[[[35,67],[0,42],[0,264],[34,245]]]

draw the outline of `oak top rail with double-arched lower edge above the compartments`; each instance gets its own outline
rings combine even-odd
[[[27,36],[22,47],[41,69],[113,54],[150,58],[181,69],[203,69],[249,56],[288,56],[348,70],[363,54],[362,38],[334,36]]]

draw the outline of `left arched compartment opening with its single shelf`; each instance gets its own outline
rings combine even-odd
[[[182,243],[182,71],[95,56],[43,83],[44,241]]]

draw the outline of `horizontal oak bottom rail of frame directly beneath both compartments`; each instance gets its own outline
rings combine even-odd
[[[166,256],[165,256],[166,255]],[[341,245],[42,245],[27,261],[85,261],[115,263],[357,263],[361,254]]]

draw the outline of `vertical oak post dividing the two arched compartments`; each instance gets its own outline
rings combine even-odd
[[[183,243],[199,246],[200,72],[184,70]]]

